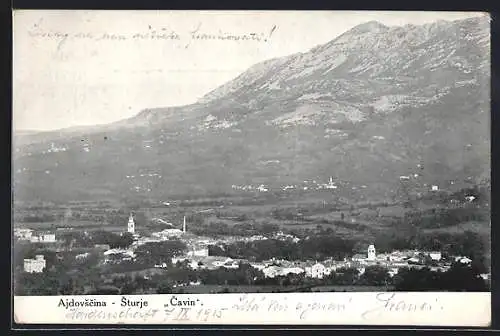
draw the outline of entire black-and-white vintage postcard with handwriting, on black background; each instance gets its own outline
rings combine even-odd
[[[490,17],[13,12],[18,324],[488,326]]]

